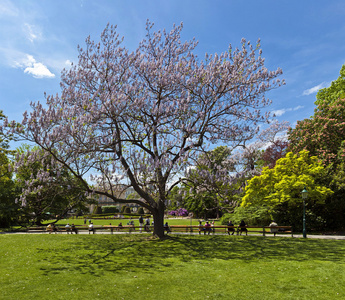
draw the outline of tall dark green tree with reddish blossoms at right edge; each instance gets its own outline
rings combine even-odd
[[[325,184],[334,194],[327,200],[327,219],[333,223],[333,229],[345,226],[345,99],[337,98],[344,86],[340,78],[338,81],[328,94],[323,94],[325,101],[318,99],[314,115],[297,122],[289,131],[290,151],[307,149],[322,160],[328,172]]]

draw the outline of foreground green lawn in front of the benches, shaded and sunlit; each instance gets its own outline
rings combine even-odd
[[[0,235],[7,299],[344,299],[345,241]]]

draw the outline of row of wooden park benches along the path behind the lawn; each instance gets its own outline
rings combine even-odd
[[[116,226],[116,225],[102,225],[102,226],[94,226],[94,231],[99,230],[106,230],[110,231],[111,233],[114,233],[114,231],[117,232],[128,232],[131,233],[133,231],[142,231],[142,232],[150,232],[152,230],[152,226],[148,226],[145,228],[140,226],[133,226],[133,225],[123,225],[123,226]],[[86,230],[88,231],[88,226],[76,226],[76,230]],[[27,232],[45,232],[46,227],[42,226],[36,226],[36,227],[28,227]],[[269,226],[226,226],[226,225],[215,225],[211,227],[205,227],[205,226],[199,226],[199,225],[169,225],[169,229],[167,230],[170,233],[174,232],[189,232],[194,233],[198,232],[201,233],[236,233],[241,234],[242,232],[247,233],[261,233],[263,236],[266,234],[291,234],[293,237],[293,231],[291,226],[275,226],[275,227],[269,227]],[[65,227],[57,227],[57,232],[71,232],[71,230],[66,230]]]

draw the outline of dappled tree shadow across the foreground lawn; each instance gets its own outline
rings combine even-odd
[[[169,236],[164,241],[144,236],[99,235],[69,240],[61,249],[38,249],[44,274],[77,271],[164,272],[192,261],[257,260],[328,261],[343,264],[344,241],[292,238]],[[49,263],[49,264],[48,264]]]

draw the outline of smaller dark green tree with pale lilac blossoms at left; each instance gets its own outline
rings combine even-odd
[[[42,221],[64,217],[72,209],[86,210],[88,199],[80,182],[66,167],[54,167],[49,153],[41,149],[30,152],[30,148],[22,145],[16,157],[15,178],[22,189],[21,219],[41,225]]]

